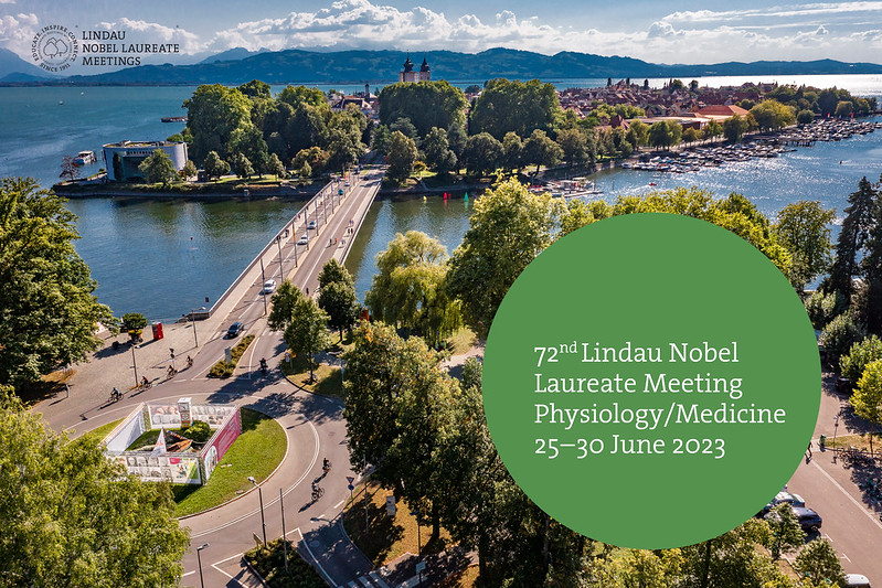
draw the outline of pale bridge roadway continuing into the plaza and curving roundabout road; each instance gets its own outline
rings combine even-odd
[[[35,411],[55,429],[79,435],[106,423],[123,418],[146,400],[176,400],[190,396],[194,402],[236,403],[276,418],[288,438],[288,451],[278,470],[262,481],[266,534],[281,536],[279,494],[286,506],[287,536],[298,544],[301,554],[317,565],[331,585],[346,585],[368,575],[371,565],[348,541],[337,524],[349,496],[346,477],[358,478],[349,469],[346,445],[346,423],[342,403],[308,394],[284,378],[277,366],[285,344],[281,334],[266,325],[265,301],[259,293],[264,279],[290,278],[310,296],[316,296],[318,274],[336,257],[341,261],[349,252],[352,238],[380,188],[384,170],[365,167],[353,175],[351,185],[342,182],[329,186],[312,199],[300,214],[279,231],[235,280],[204,320],[177,323],[166,329],[166,338],[146,341],[137,348],[121,345],[115,351],[111,341],[126,335],[107,338],[104,349],[91,362],[75,366],[71,377],[71,394],[61,394],[36,404]],[[340,196],[337,190],[342,189]],[[316,223],[315,229],[307,226]],[[288,229],[287,235],[285,229]],[[296,245],[309,236],[309,245]],[[134,261],[137,263],[137,261]],[[248,352],[243,355],[230,379],[208,378],[211,366],[223,359],[224,350],[236,340],[224,339],[226,327],[234,321],[245,323],[245,333],[255,335]],[[194,332],[195,330],[195,332]],[[196,341],[199,345],[196,345]],[[176,365],[181,370],[172,378],[166,370],[172,361],[169,348],[176,350]],[[182,368],[187,355],[194,359],[192,367]],[[259,359],[266,357],[270,372],[263,376]],[[147,376],[153,386],[142,393],[130,389],[135,384],[136,360],[138,376]],[[124,391],[119,403],[107,403],[114,387]],[[326,494],[312,502],[310,482],[322,478],[321,458],[333,463],[332,472],[322,479]],[[253,534],[261,534],[258,493],[251,491],[222,507],[187,517],[181,522],[190,528],[192,544],[184,557],[184,586],[199,586],[195,548],[209,543],[201,553],[205,586],[258,586],[256,578],[242,564],[242,553],[254,546]]]

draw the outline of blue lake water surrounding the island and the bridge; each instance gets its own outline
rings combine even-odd
[[[780,83],[836,85],[860,95],[882,96],[882,76],[791,76]],[[745,78],[746,81],[746,78]],[[763,78],[762,81],[772,81]],[[597,86],[605,79],[553,81],[559,87]],[[662,81],[650,81],[658,85]],[[701,84],[741,83],[738,78],[702,78]],[[458,83],[465,85],[466,82]],[[320,86],[322,89],[332,87]],[[337,86],[351,92],[353,86]],[[44,185],[57,181],[61,158],[124,139],[164,139],[182,124],[161,117],[181,108],[193,87],[41,87],[0,88],[0,175],[30,175]],[[280,88],[274,88],[278,92]],[[372,90],[375,88],[372,86]],[[63,103],[63,104],[59,104]],[[839,164],[839,161],[842,164]],[[97,171],[103,163],[88,167]],[[738,191],[774,215],[788,202],[820,200],[838,215],[861,177],[882,173],[882,131],[819,143],[777,159],[727,164],[687,174],[615,171],[597,175],[604,197],[676,185],[698,184],[719,194]],[[446,204],[432,196],[376,202],[359,235],[348,265],[363,296],[374,271],[373,259],[395,233],[423,231],[448,252],[468,227],[468,206],[458,194]],[[137,311],[170,320],[215,300],[246,264],[300,206],[294,200],[222,202],[89,199],[71,201],[79,216],[78,253],[98,280],[97,295],[117,314]],[[192,237],[192,240],[191,238]]]

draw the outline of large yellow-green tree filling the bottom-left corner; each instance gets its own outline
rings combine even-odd
[[[8,586],[178,586],[189,534],[166,483],[129,478],[96,438],[71,441],[0,398],[0,575]]]

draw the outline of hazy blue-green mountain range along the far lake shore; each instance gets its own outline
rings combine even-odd
[[[0,57],[6,55],[0,53]],[[14,55],[14,54],[12,54]],[[9,70],[0,62],[0,84],[22,85],[238,85],[251,79],[268,84],[387,84],[397,79],[405,54],[401,51],[315,52],[287,50],[248,52],[230,50],[190,65],[141,65],[96,75],[53,79],[10,78],[13,72],[38,75],[41,70],[19,58],[29,70]],[[805,74],[882,74],[882,65],[844,63],[833,60],[811,62],[762,61],[727,62],[711,65],[652,64],[631,57],[561,52],[542,55],[529,51],[491,49],[481,53],[427,51],[414,53],[417,64],[426,58],[433,79],[482,82],[493,77],[543,81],[567,78],[639,79],[646,77],[771,76]],[[17,57],[18,58],[18,57]],[[13,64],[14,66],[14,64]],[[36,70],[36,73],[33,72]],[[14,74],[13,74],[14,76]],[[43,76],[45,77],[45,76]]]

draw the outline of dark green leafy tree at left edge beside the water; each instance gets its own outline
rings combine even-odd
[[[115,325],[77,255],[76,215],[31,178],[0,180],[0,384],[35,382],[84,361]]]

